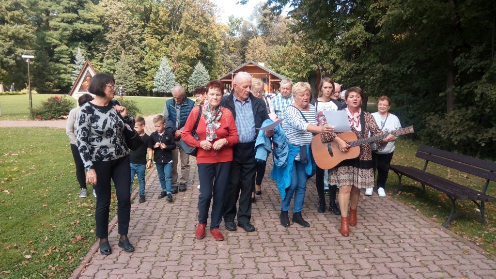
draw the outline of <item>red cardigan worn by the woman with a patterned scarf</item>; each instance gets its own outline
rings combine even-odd
[[[219,120],[220,127],[215,130],[217,133],[217,139],[214,139],[210,143],[214,143],[219,139],[227,139],[227,144],[222,146],[220,150],[205,150],[200,147],[200,141],[206,140],[205,130],[207,125],[205,124],[205,117],[203,113],[200,116],[200,121],[198,122],[198,128],[196,129],[196,133],[198,134],[199,140],[196,140],[191,135],[191,130],[194,127],[194,123],[196,122],[196,118],[198,117],[199,108],[198,106],[194,107],[189,113],[189,116],[186,120],[185,128],[183,134],[181,134],[181,138],[186,141],[191,146],[198,147],[196,151],[196,163],[204,164],[204,163],[222,163],[222,162],[230,162],[233,160],[233,145],[238,143],[238,130],[236,129],[236,122],[234,120],[233,114],[229,109],[221,108],[222,116]],[[217,156],[215,153],[217,152]]]

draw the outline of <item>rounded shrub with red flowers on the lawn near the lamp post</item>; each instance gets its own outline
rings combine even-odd
[[[41,120],[66,119],[74,104],[67,97],[54,96],[41,103],[41,107],[33,109],[33,118]]]

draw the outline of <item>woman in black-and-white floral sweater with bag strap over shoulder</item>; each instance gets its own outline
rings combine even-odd
[[[113,101],[116,86],[111,74],[99,73],[89,84],[88,91],[95,99],[82,105],[77,120],[77,147],[86,169],[86,183],[96,190],[96,235],[100,238],[100,253],[109,255],[109,209],[114,181],[118,202],[119,247],[133,252],[127,238],[131,214],[129,192],[131,171],[129,148],[124,139],[124,124],[134,127],[134,119],[126,108]]]

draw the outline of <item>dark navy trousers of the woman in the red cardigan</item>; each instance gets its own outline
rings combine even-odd
[[[201,185],[198,196],[198,223],[207,222],[208,209],[210,209],[210,202],[213,198],[210,229],[219,228],[222,221],[230,172],[231,162],[198,164]]]

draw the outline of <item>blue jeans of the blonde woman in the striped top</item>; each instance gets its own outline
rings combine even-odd
[[[291,205],[293,194],[295,195],[295,202],[293,203],[293,213],[303,210],[303,203],[305,202],[305,193],[307,192],[307,172],[305,171],[305,164],[301,161],[294,161],[293,173],[291,174],[291,184],[286,188],[286,197],[281,203],[281,210],[288,211]]]

